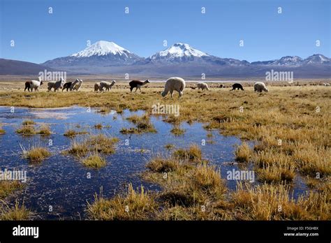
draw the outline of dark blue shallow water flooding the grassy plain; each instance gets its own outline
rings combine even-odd
[[[124,190],[128,182],[134,188],[142,184],[149,190],[159,190],[159,186],[144,182],[140,173],[146,170],[145,165],[153,156],[169,156],[172,153],[165,149],[167,144],[175,145],[175,148],[189,147],[192,143],[200,145],[203,159],[219,167],[223,178],[226,178],[228,170],[238,170],[233,151],[235,145],[241,143],[239,138],[220,135],[219,131],[206,131],[204,124],[200,123],[181,124],[181,128],[186,131],[184,135],[175,136],[170,133],[172,125],[162,121],[162,117],[151,117],[157,133],[119,133],[124,127],[134,126],[126,120],[126,117],[133,114],[142,115],[144,112],[124,110],[119,115],[116,112],[100,113],[98,109],[81,107],[15,110],[0,107],[0,123],[6,130],[6,134],[0,135],[1,170],[7,168],[27,171],[24,191],[15,195],[11,202],[15,198],[24,200],[24,205],[36,212],[38,219],[85,219],[87,201],[93,202],[94,194],[99,193],[101,186],[105,197]],[[15,133],[24,119],[36,121],[36,128],[40,124],[49,124],[52,135],[22,136]],[[94,128],[96,124],[103,124],[103,128]],[[72,138],[64,136],[69,128],[119,138],[115,145],[115,154],[105,157],[107,165],[104,168],[86,168],[75,157],[61,154],[71,144]],[[212,133],[213,136],[208,137],[207,133]],[[80,140],[83,137],[84,135],[78,135],[75,139]],[[203,140],[205,145],[202,145]],[[41,163],[29,163],[22,158],[21,147],[29,149],[34,145],[47,147],[52,156]],[[229,189],[235,189],[235,180],[227,180],[227,183]],[[295,181],[295,188],[295,196],[304,189],[300,177]]]

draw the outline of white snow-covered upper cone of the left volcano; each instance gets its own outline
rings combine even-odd
[[[84,50],[72,54],[71,57],[105,56],[108,54],[119,54],[120,56],[124,55],[128,57],[129,53],[128,50],[125,50],[123,47],[120,47],[113,42],[99,40],[93,45],[86,47]]]

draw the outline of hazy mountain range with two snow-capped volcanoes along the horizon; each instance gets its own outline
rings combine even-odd
[[[200,76],[205,73],[210,77],[230,78],[264,77],[266,71],[273,69],[293,71],[295,78],[331,78],[331,59],[323,54],[313,54],[306,59],[286,56],[281,59],[250,63],[245,60],[216,57],[186,43],[175,43],[166,50],[144,58],[116,43],[100,40],[80,52],[45,61],[40,65],[43,68],[81,74]],[[3,68],[1,69],[0,61],[1,73]]]

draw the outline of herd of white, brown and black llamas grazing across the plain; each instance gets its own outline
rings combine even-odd
[[[79,91],[82,87],[82,80],[76,79],[74,82],[65,82],[64,78],[60,78],[59,81],[50,81],[47,82],[47,91],[52,91],[52,89],[55,91],[62,89],[66,89],[66,91]],[[135,92],[139,89],[141,92],[141,87],[144,86],[145,84],[148,84],[149,80],[145,80],[144,82],[140,80],[132,80],[131,82],[128,83],[130,86],[130,91],[132,92],[133,89],[135,89]],[[43,81],[41,81],[41,78],[38,78],[38,80],[31,80],[25,82],[25,89],[24,91],[38,91],[38,88],[43,84]],[[112,89],[112,87],[116,84],[115,80],[112,80],[112,82],[106,82],[106,81],[101,81],[101,82],[96,82],[94,84],[94,91],[109,91]],[[330,84],[325,83],[325,86],[330,86]],[[223,88],[223,84],[219,86],[219,88]],[[256,92],[262,92],[262,91],[269,91],[267,87],[265,86],[264,82],[256,82],[254,85],[254,91]],[[164,85],[164,90],[161,92],[161,95],[164,97],[168,93],[170,93],[170,96],[172,97],[173,91],[177,91],[179,94],[179,97],[181,97],[184,93],[184,88],[185,88],[185,80],[179,77],[172,77],[168,78],[168,80],[165,81]],[[191,87],[191,89],[201,89],[201,90],[209,90],[208,84],[205,82],[198,82],[196,84],[196,87]],[[242,84],[240,83],[235,83],[232,85],[233,90],[243,90],[244,88],[242,87]]]

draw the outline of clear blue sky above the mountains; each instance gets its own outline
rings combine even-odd
[[[0,4],[0,57],[6,59],[42,63],[84,49],[87,40],[114,41],[141,57],[164,50],[163,40],[247,61],[331,56],[330,0],[0,0]],[[124,13],[126,6],[129,14]],[[282,14],[277,13],[279,6]],[[15,47],[10,47],[10,40],[15,40]],[[320,47],[316,40],[321,40]]]

